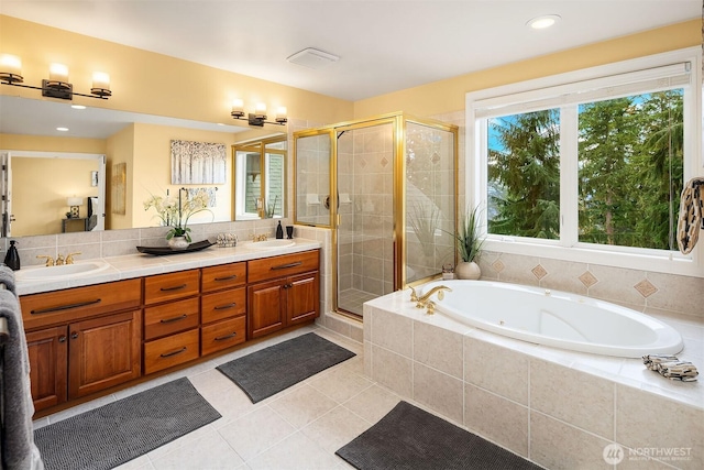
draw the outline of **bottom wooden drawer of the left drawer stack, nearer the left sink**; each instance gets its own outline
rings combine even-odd
[[[144,343],[144,374],[198,359],[198,329]]]

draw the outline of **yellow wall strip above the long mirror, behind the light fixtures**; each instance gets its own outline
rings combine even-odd
[[[94,72],[110,74],[112,97],[75,97],[74,101],[81,105],[238,124],[230,111],[232,100],[241,98],[245,111],[263,101],[271,110],[286,106],[292,119],[333,123],[352,118],[351,101],[7,15],[0,15],[0,44],[1,53],[20,56],[29,85],[41,85],[54,62],[68,66],[69,80],[77,92],[89,92]],[[16,87],[0,87],[0,94],[42,99],[37,90]]]

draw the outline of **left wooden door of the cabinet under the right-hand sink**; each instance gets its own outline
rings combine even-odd
[[[248,287],[248,339],[268,335],[284,327],[284,285],[286,280]]]

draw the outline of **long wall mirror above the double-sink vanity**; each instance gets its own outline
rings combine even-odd
[[[177,140],[224,144],[226,149],[224,181],[186,185],[187,188],[194,189],[213,189],[210,193],[215,195],[209,217],[191,222],[235,219],[234,192],[239,186],[232,177],[235,175],[235,164],[228,150],[244,140],[267,141],[265,145],[274,145],[271,147],[268,160],[263,160],[262,167],[263,173],[270,174],[273,178],[275,170],[267,167],[275,167],[276,159],[280,160],[280,193],[276,193],[277,189],[272,184],[271,187],[263,188],[265,193],[260,197],[263,198],[262,201],[266,201],[270,194],[274,195],[274,199],[278,195],[273,214],[276,217],[285,214],[285,133],[273,134],[268,127],[253,129],[231,122],[190,121],[105,108],[75,109],[72,105],[70,101],[0,96],[0,153],[22,155],[22,160],[30,160],[30,154],[34,154],[33,159],[51,157],[59,168],[41,176],[32,170],[33,166],[36,168],[40,160],[33,160],[33,163],[26,165],[21,160],[12,157],[12,166],[2,178],[2,189],[13,194],[13,204],[3,208],[3,218],[7,221],[14,219],[15,222],[0,226],[0,229],[9,226],[10,236],[158,226],[161,221],[154,217],[153,210],[144,210],[144,201],[151,195],[168,192],[175,194],[184,186],[172,184],[170,142]],[[280,142],[274,142],[276,139]],[[263,155],[268,153],[270,150],[266,150]],[[101,166],[99,162],[102,155],[105,164]],[[84,167],[87,162],[95,164],[96,168]],[[70,175],[77,176],[75,183],[69,178]],[[96,179],[99,186],[91,186]],[[23,185],[22,190],[31,192],[30,196],[22,195],[21,201],[19,196],[23,193],[18,193],[19,184]],[[26,185],[30,185],[29,188]],[[100,189],[103,192],[102,200],[97,195]],[[102,221],[94,223],[95,220],[88,220],[82,226],[78,220],[66,221],[72,218],[67,217],[67,212],[70,214],[72,210],[68,198],[74,196],[81,198],[78,206],[79,217],[76,219],[89,219],[94,214],[102,211]],[[52,207],[51,214],[42,212],[45,209],[38,206],[43,204],[40,201],[41,197],[52,198],[48,204]],[[271,203],[274,203],[274,199]],[[43,207],[46,206],[47,204],[44,204]],[[262,208],[264,207],[265,204],[262,203]],[[264,211],[262,216],[266,215]],[[30,220],[31,225],[24,223]]]

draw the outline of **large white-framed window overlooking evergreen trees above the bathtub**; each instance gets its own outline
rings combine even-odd
[[[662,54],[469,94],[468,187],[490,247],[679,256],[680,194],[701,174],[698,61]]]

